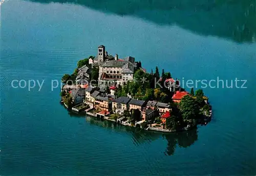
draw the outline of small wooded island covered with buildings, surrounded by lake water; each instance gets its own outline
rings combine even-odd
[[[103,45],[61,81],[61,102],[69,111],[121,125],[175,132],[207,124],[212,115],[202,89],[187,92],[170,72],[156,67],[148,73],[141,61],[109,55]]]

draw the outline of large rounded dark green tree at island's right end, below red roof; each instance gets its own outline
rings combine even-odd
[[[180,112],[184,121],[197,119],[199,116],[199,106],[194,98],[189,95],[184,96],[180,101]]]

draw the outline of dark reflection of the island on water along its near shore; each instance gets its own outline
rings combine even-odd
[[[74,112],[69,112],[71,117],[83,118],[84,115],[76,114]],[[171,156],[174,154],[176,147],[186,148],[193,145],[198,139],[197,129],[183,131],[179,133],[160,133],[157,131],[145,131],[140,128],[134,128],[129,126],[117,125],[111,121],[97,120],[94,117],[87,116],[84,119],[87,123],[91,125],[97,125],[104,128],[112,128],[118,132],[122,131],[124,134],[131,135],[134,145],[140,145],[143,143],[150,143],[159,138],[167,140],[167,147],[164,151],[165,155]],[[79,124],[82,124],[79,122]]]

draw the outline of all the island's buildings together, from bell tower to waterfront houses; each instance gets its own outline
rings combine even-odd
[[[166,122],[166,119],[171,117],[172,109],[169,104],[157,102],[157,101],[143,101],[132,99],[129,97],[116,98],[114,95],[116,84],[122,85],[124,82],[132,81],[134,72],[137,68],[135,58],[128,56],[123,59],[119,59],[118,55],[108,55],[104,46],[99,46],[97,56],[93,59],[89,59],[89,64],[93,67],[99,67],[99,80],[98,87],[93,87],[88,84],[90,80],[90,69],[84,65],[79,68],[76,78],[76,85],[63,85],[61,91],[69,92],[73,104],[86,103],[91,108],[101,109],[104,115],[110,113],[123,114],[125,111],[132,111],[132,109],[138,109],[142,121],[153,120],[156,117],[160,117],[162,123]],[[187,92],[176,91],[174,85],[176,81],[173,78],[165,80],[169,90],[175,92],[172,100],[179,103],[185,95],[189,95]],[[110,86],[110,94],[101,91],[105,85]]]

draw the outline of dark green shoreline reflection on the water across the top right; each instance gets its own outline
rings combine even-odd
[[[117,15],[132,15],[159,25],[178,25],[201,34],[255,42],[255,0],[30,0],[39,3],[74,3]]]

